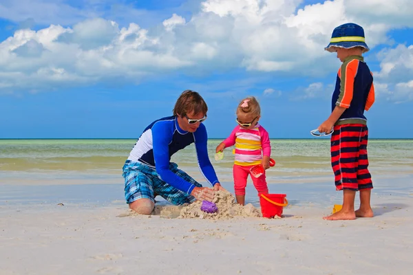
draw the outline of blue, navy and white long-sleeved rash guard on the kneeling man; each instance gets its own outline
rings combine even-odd
[[[171,156],[195,143],[198,165],[202,175],[214,186],[218,177],[208,157],[207,129],[200,124],[194,133],[180,129],[176,115],[155,120],[143,131],[129,154],[132,162],[140,162],[156,169],[160,178],[171,186],[191,194],[195,185],[169,170]]]

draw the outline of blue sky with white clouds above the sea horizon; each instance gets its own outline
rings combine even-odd
[[[307,138],[330,114],[335,26],[363,25],[376,102],[370,137],[412,138],[407,0],[0,3],[0,138],[136,138],[184,89],[226,137],[246,96],[272,138]],[[391,5],[392,8],[389,8]]]

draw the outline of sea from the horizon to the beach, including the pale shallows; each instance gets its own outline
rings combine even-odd
[[[0,140],[0,205],[11,201],[95,204],[117,201],[124,205],[122,166],[135,142]],[[224,187],[233,191],[231,150],[224,151],[220,162],[213,158],[220,142],[209,140],[210,159]],[[267,170],[270,192],[287,193],[293,204],[339,202],[340,194],[332,183],[329,142],[327,138],[271,140],[276,165]],[[370,140],[368,153],[375,192],[391,190],[393,195],[413,192],[410,190],[413,188],[408,189],[413,178],[413,140]],[[173,155],[172,161],[204,184],[193,145]],[[258,201],[252,184],[247,186],[248,200]]]

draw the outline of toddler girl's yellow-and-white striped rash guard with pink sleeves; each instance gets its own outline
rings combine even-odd
[[[271,155],[270,137],[260,124],[252,129],[243,129],[237,125],[223,142],[225,148],[235,144],[234,164],[240,166],[261,164],[262,155]]]

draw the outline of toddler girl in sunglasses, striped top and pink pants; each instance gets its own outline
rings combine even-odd
[[[237,203],[245,203],[245,187],[250,169],[262,164],[264,169],[270,167],[271,144],[268,132],[258,124],[260,120],[260,104],[255,97],[245,98],[237,107],[237,123],[231,135],[220,143],[216,153],[235,144],[235,162],[233,166],[235,198]],[[258,194],[268,193],[265,173],[260,177],[253,177],[253,184]]]

